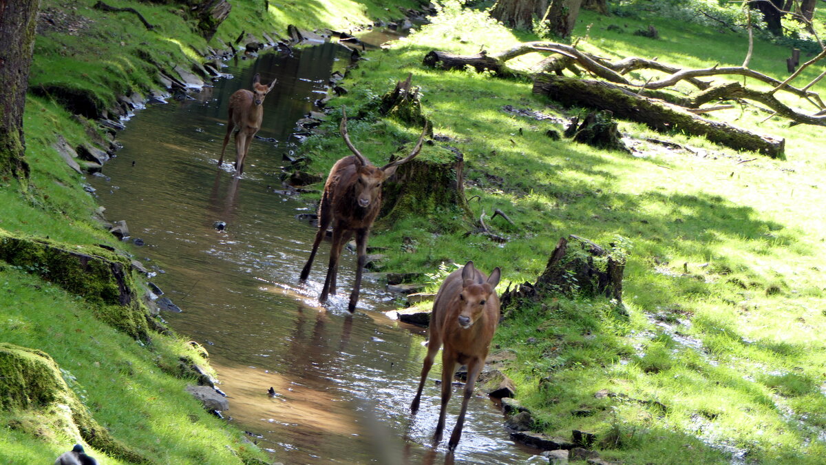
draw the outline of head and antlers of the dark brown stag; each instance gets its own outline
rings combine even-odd
[[[370,161],[365,158],[353,145],[353,142],[350,141],[349,134],[347,133],[347,111],[344,107],[341,108],[341,114],[342,117],[339,132],[341,132],[341,137],[344,138],[344,142],[356,157],[356,169],[358,170],[358,178],[354,185],[357,199],[356,201],[359,207],[366,209],[370,205],[377,204],[382,199],[382,183],[396,172],[396,168],[399,165],[413,160],[415,156],[419,155],[422,142],[425,141],[427,123],[425,123],[425,130],[421,132],[419,141],[416,142],[410,155],[400,160],[391,161],[387,165],[379,168],[370,163]]]

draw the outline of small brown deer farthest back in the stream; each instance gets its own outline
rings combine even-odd
[[[273,90],[276,80],[278,79],[273,79],[269,85],[263,85],[261,74],[255,73],[251,91],[238,89],[230,96],[230,117],[226,122],[226,136],[224,136],[224,146],[221,148],[218,166],[224,162],[226,144],[230,141],[230,134],[235,130],[235,175],[244,173],[244,158],[249,152],[249,142],[261,129],[263,99],[269,91]]]

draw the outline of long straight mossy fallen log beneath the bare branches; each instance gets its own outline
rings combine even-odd
[[[591,79],[539,74],[534,93],[540,93],[565,106],[610,110],[615,117],[642,122],[658,132],[680,131],[734,150],[748,150],[784,158],[785,139],[761,136],[724,122],[714,122],[653,98],[646,98],[614,84]]]

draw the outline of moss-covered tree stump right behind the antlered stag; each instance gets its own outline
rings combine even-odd
[[[404,156],[403,147],[397,156]],[[396,158],[392,156],[391,161]],[[431,216],[439,210],[458,210],[470,217],[464,194],[464,157],[462,153],[439,146],[425,146],[419,156],[400,165],[385,181],[382,192],[381,221],[395,221],[409,214]]]

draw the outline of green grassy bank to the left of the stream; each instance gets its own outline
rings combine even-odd
[[[345,28],[398,18],[399,7],[417,6],[337,0],[271,3],[262,12],[259,3],[233,2],[230,17],[207,42],[186,7],[107,2],[140,11],[154,25],[148,31],[135,16],[102,12],[94,3],[41,4],[24,120],[31,177],[25,191],[14,180],[0,181],[0,235],[48,239],[68,250],[103,244],[130,252],[93,219],[97,204],[83,189],[85,178],[59,156],[56,143],[105,147],[104,129],[94,119],[115,117],[109,109],[118,97],[162,89],[159,70],[174,75],[176,65],[197,67],[210,48],[220,50],[241,31],[260,40],[262,32],[284,35],[287,24]],[[106,308],[100,302],[39,277],[48,274],[38,266],[0,264],[0,341],[50,355],[71,395],[113,439],[152,463],[267,459],[183,391],[195,379],[182,371],[182,359],[208,367],[184,338],[152,332],[151,343],[136,341],[102,323],[98,317]],[[36,403],[26,410],[0,409],[0,463],[50,463],[74,443],[86,444],[64,410]],[[86,449],[98,463],[126,463],[88,444]]]

